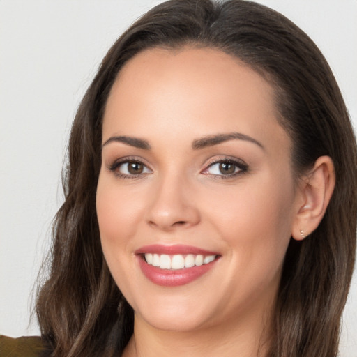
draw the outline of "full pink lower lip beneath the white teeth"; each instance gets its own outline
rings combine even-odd
[[[215,261],[217,261],[216,258],[214,261],[211,261],[211,263],[202,264],[202,266],[192,266],[192,268],[183,268],[172,271],[149,265],[141,256],[138,258],[139,266],[146,278],[162,287],[179,287],[180,285],[189,284],[207,273],[213,268]]]

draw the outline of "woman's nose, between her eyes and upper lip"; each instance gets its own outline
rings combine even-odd
[[[163,231],[197,225],[200,215],[192,191],[190,184],[179,176],[160,179],[151,192],[146,221]]]

